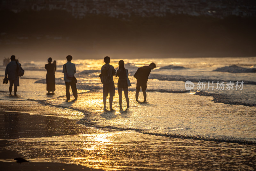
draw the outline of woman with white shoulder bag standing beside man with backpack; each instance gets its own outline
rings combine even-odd
[[[127,84],[127,73],[128,70],[124,68],[124,61],[118,62],[119,68],[116,71],[116,77],[118,76],[117,89],[119,95],[119,107],[122,109],[122,92],[124,90],[124,97],[126,99],[127,108],[129,108],[129,97],[128,97],[128,84]],[[126,73],[127,70],[127,73]]]

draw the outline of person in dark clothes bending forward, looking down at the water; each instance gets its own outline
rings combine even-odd
[[[135,94],[136,101],[138,101],[140,87],[141,87],[141,90],[142,90],[143,96],[144,96],[143,102],[147,101],[146,89],[147,89],[148,76],[151,72],[151,69],[154,69],[154,68],[156,68],[156,64],[154,62],[152,62],[151,64],[149,64],[149,66],[144,66],[144,67],[138,68],[138,70],[134,74],[134,77],[137,79],[136,94]]]

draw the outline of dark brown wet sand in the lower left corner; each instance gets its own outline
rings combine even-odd
[[[96,129],[76,124],[75,121],[49,116],[29,115],[28,113],[0,111],[0,170],[100,170],[89,167],[53,162],[24,162],[17,163],[13,159],[20,156],[18,153],[6,150],[10,139],[51,137],[80,133],[95,133]],[[13,161],[12,161],[13,160]],[[29,159],[28,159],[29,160]]]

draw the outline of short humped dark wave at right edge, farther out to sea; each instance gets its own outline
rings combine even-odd
[[[237,65],[230,65],[222,68],[217,68],[213,71],[229,72],[229,73],[255,73],[256,68],[243,68],[243,67],[238,67]]]

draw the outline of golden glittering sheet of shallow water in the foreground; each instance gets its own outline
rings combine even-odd
[[[26,157],[38,161],[58,159],[103,170],[180,170],[179,166],[191,161],[194,161],[193,170],[200,170],[205,166],[201,164],[202,158],[207,158],[212,165],[226,162],[227,158],[229,162],[236,160],[240,164],[233,169],[246,170],[244,162],[254,160],[252,156],[255,156],[255,146],[166,138],[134,131],[23,138],[15,139],[10,145],[8,149],[19,149]],[[237,153],[243,156],[239,160]],[[211,170],[212,165],[206,170]]]

